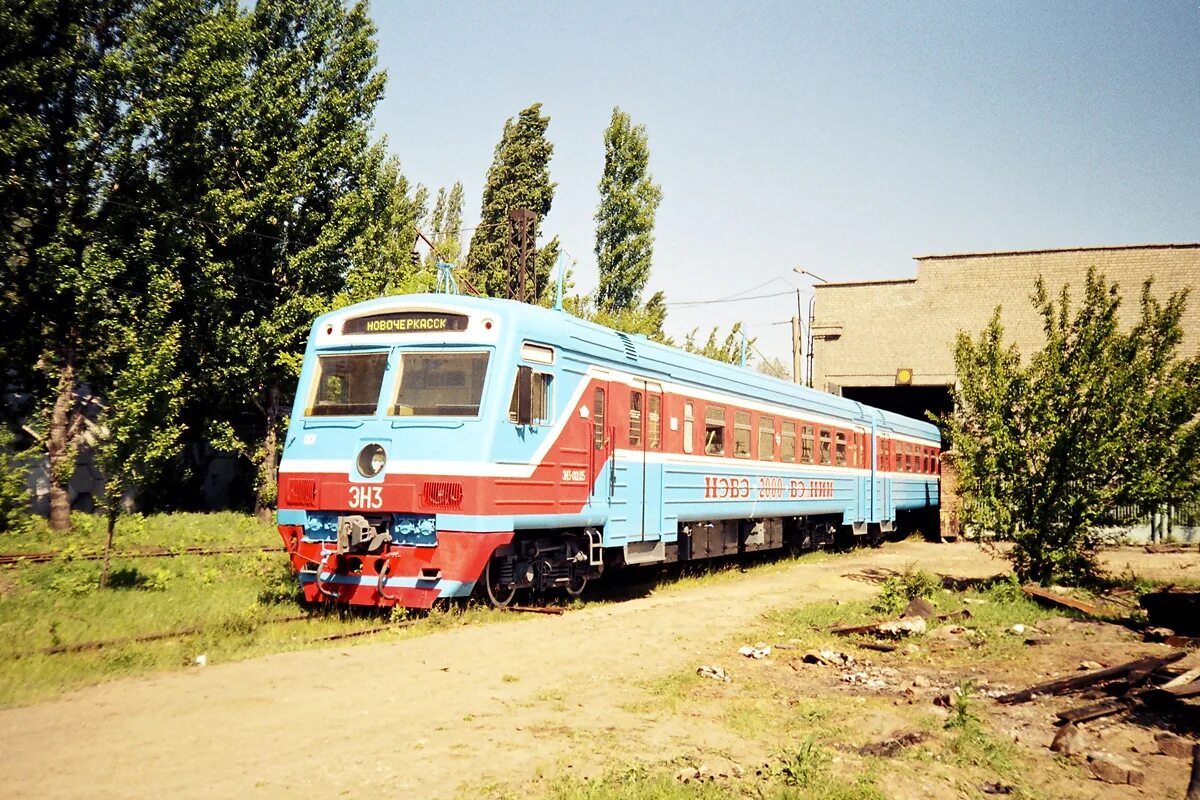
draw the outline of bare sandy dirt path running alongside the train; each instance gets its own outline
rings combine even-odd
[[[1117,551],[1109,561],[1116,571],[1128,563],[1200,576],[1194,553]],[[744,745],[702,718],[629,709],[653,679],[736,649],[763,609],[870,597],[877,587],[856,575],[914,563],[960,578],[1006,570],[970,543],[906,541],[563,616],[95,686],[0,711],[0,795],[448,798],[616,758],[738,753]],[[1092,655],[1108,646],[1098,640]],[[1046,714],[1030,705],[1009,722],[1019,736]],[[1176,783],[1172,772],[1168,784]],[[1123,788],[1133,794],[1121,796],[1160,796]]]

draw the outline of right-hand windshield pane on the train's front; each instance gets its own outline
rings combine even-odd
[[[478,416],[486,353],[401,353],[392,416]]]

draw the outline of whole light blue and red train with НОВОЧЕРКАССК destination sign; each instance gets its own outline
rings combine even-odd
[[[620,565],[936,511],[937,428],[562,311],[382,297],[317,319],[280,464],[307,600],[581,593]]]

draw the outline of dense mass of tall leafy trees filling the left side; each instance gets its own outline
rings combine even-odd
[[[365,2],[34,0],[0,29],[0,366],[44,401],[52,522],[80,395],[121,486],[186,432],[257,455],[265,506],[312,318],[419,281]]]

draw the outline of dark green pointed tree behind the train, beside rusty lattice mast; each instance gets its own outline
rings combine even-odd
[[[536,242],[541,224],[554,200],[550,180],[550,158],[554,145],[546,139],[550,118],[541,114],[541,103],[522,110],[516,120],[508,119],[496,145],[492,166],[484,184],[479,227],[470,237],[467,269],[472,283],[487,296],[509,296],[516,282],[516,251],[511,246],[509,212],[528,209],[538,215],[528,234]],[[558,260],[558,237],[539,248],[527,265],[527,285],[545,300],[553,296],[550,273]]]

